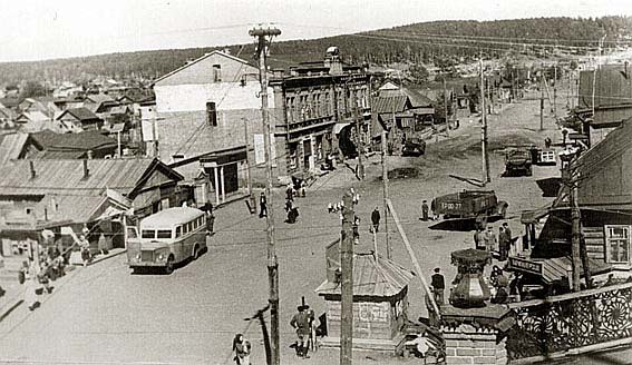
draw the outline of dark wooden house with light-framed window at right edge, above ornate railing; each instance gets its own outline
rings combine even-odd
[[[575,164],[581,177],[577,203],[582,237],[591,272],[612,269],[615,275],[626,277],[632,269],[632,121],[611,131]],[[533,248],[529,258],[511,258],[509,267],[541,275],[545,267],[537,263],[571,255],[568,197],[570,189],[562,187],[551,207],[523,215],[528,245]],[[558,275],[561,279],[563,274]]]

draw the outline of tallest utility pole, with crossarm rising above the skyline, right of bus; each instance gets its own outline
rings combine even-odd
[[[276,258],[276,248],[274,246],[274,219],[273,219],[273,196],[272,196],[272,152],[270,140],[270,120],[268,116],[268,67],[265,66],[265,57],[268,45],[270,41],[266,37],[281,34],[281,30],[276,28],[255,27],[249,31],[251,37],[257,38],[259,53],[259,78],[261,80],[261,118],[263,120],[263,144],[265,147],[265,196],[268,198],[268,215],[265,221],[268,224],[268,276],[270,283],[270,335],[271,335],[271,358],[272,365],[280,364],[279,347],[279,260]]]

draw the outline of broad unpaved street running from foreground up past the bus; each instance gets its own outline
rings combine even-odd
[[[505,107],[492,116],[490,147],[505,144],[535,142],[545,136],[554,140],[558,130],[552,118],[545,131],[538,131],[538,101],[523,101]],[[419,158],[390,157],[392,169],[415,167],[415,178],[390,181],[390,196],[402,225],[428,276],[439,266],[447,280],[455,269],[449,253],[473,247],[471,231],[436,230],[435,223],[418,219],[422,199],[459,189],[473,188],[448,177],[480,178],[480,129],[477,120],[461,118],[460,128],[450,139],[428,145]],[[519,214],[550,201],[543,198],[535,180],[558,175],[556,167],[536,167],[534,176],[500,178],[503,156],[490,155],[492,184],[500,199],[509,203],[512,230],[522,234]],[[361,244],[368,251],[372,243],[368,233],[370,211],[382,206],[381,171],[377,156],[368,167],[363,182],[353,181],[349,170],[322,177],[308,197],[298,199],[299,221],[283,223],[282,191],[275,195],[276,243],[280,263],[282,363],[338,363],[338,351],[322,349],[308,361],[299,361],[288,347],[294,334],[289,326],[301,296],[320,315],[324,303],[313,290],[324,280],[324,246],[340,231],[337,215],[327,213],[327,204],[340,200],[352,182],[361,195],[357,214],[362,218]],[[347,185],[347,187],[346,187]],[[261,331],[256,323],[243,318],[266,305],[268,272],[265,221],[246,213],[243,201],[217,210],[217,234],[210,238],[210,250],[198,260],[173,275],[130,275],[125,256],[80,268],[50,300],[33,313],[22,306],[0,323],[0,361],[25,363],[232,363],[231,343],[235,333],[244,332],[254,344],[253,363],[264,364]],[[383,218],[382,218],[383,219]],[[389,237],[392,259],[412,268],[392,220]],[[495,224],[495,230],[497,231]],[[379,250],[386,255],[385,234],[379,235]],[[409,289],[410,318],[425,315],[418,279]],[[246,331],[247,329],[247,331]],[[387,355],[356,352],[357,364],[396,364]],[[415,363],[415,361],[410,361]]]

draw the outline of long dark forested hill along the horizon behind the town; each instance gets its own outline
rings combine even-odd
[[[318,60],[330,46],[338,46],[346,61],[371,63],[427,62],[437,55],[473,56],[480,51],[494,56],[507,49],[537,52],[554,46],[568,52],[584,53],[596,48],[604,34],[604,47],[632,43],[632,17],[422,22],[313,40],[279,41],[271,48],[270,61],[272,67],[286,68],[299,61]],[[245,59],[254,55],[251,43],[6,62],[0,63],[0,85],[22,80],[86,81],[99,75],[153,79],[189,59],[226,48]]]

